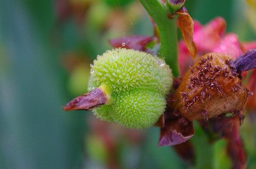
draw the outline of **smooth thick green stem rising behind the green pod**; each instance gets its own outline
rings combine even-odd
[[[178,77],[178,37],[177,37],[177,15],[173,19],[168,18],[168,9],[159,0],[140,0],[148,14],[159,28],[161,41],[161,56],[172,69],[173,75]]]

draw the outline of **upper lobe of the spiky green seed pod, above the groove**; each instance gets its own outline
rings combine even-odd
[[[172,84],[172,72],[163,59],[118,48],[93,61],[88,89],[101,84],[109,86],[112,92],[142,88],[165,94]]]

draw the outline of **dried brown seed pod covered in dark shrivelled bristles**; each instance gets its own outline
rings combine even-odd
[[[231,65],[232,56],[210,53],[202,56],[185,74],[173,95],[173,109],[192,121],[241,110],[248,91]]]

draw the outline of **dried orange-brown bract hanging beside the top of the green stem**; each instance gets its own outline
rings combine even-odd
[[[195,59],[195,56],[197,55],[197,45],[195,45],[195,42],[193,41],[194,22],[184,6],[180,10],[176,11],[175,14],[180,14],[178,17],[178,26],[181,29],[181,34],[184,38],[187,49]]]

